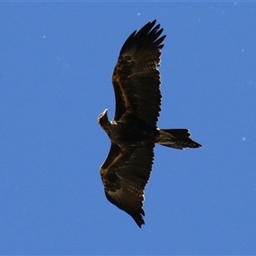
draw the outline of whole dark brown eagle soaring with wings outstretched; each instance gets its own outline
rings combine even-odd
[[[144,189],[154,161],[154,145],[169,148],[200,148],[188,129],[159,129],[160,50],[166,35],[163,28],[148,22],[127,38],[113,70],[115,113],[108,120],[108,109],[98,117],[111,147],[100,173],[105,195],[113,205],[127,212],[141,228]]]

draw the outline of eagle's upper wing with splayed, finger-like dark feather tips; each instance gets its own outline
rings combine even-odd
[[[112,83],[115,93],[116,121],[136,115],[148,125],[156,126],[160,112],[160,38],[163,29],[148,22],[140,31],[131,33],[119,53],[113,70]]]

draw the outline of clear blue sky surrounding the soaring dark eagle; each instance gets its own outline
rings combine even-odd
[[[111,74],[157,19],[161,128],[140,230],[103,193]],[[0,3],[0,254],[255,254],[256,3]]]

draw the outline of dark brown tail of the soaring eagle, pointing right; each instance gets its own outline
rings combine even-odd
[[[160,145],[170,148],[200,148],[200,143],[190,139],[188,129],[162,129],[159,130],[158,142]]]

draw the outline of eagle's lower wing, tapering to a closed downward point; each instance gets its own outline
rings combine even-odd
[[[112,143],[101,167],[102,183],[108,201],[127,212],[139,227],[144,224],[144,188],[154,160],[154,144],[142,148],[119,148]]]

